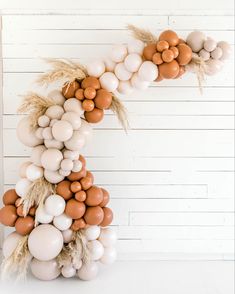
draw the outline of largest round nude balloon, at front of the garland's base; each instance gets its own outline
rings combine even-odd
[[[39,225],[29,235],[28,247],[33,257],[41,261],[55,258],[63,248],[63,235],[52,225]]]

